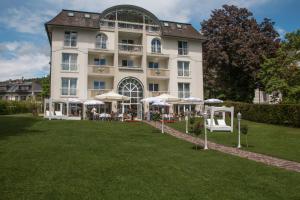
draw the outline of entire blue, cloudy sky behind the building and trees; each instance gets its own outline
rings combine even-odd
[[[212,10],[224,4],[249,9],[258,22],[272,19],[282,38],[300,29],[299,0],[1,0],[0,81],[49,74],[44,23],[62,9],[102,12],[119,4],[143,7],[162,20],[192,23],[197,30]]]

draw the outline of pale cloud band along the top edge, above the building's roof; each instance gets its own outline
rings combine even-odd
[[[153,12],[160,19],[189,22],[196,19],[199,22],[208,17],[212,10],[224,4],[252,8],[270,2],[271,0],[47,0],[59,8],[102,12],[104,9],[119,5],[132,4]]]

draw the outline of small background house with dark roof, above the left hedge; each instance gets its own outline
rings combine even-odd
[[[40,100],[41,92],[42,86],[36,81],[16,80],[0,83],[0,100]]]

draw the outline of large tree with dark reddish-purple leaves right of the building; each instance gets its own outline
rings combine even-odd
[[[223,5],[201,23],[204,82],[209,97],[251,102],[263,55],[278,48],[278,33],[270,19],[258,24],[246,8]]]

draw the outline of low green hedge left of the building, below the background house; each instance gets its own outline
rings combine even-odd
[[[29,101],[2,101],[0,100],[0,115],[10,115],[19,113],[36,114],[40,103]]]

